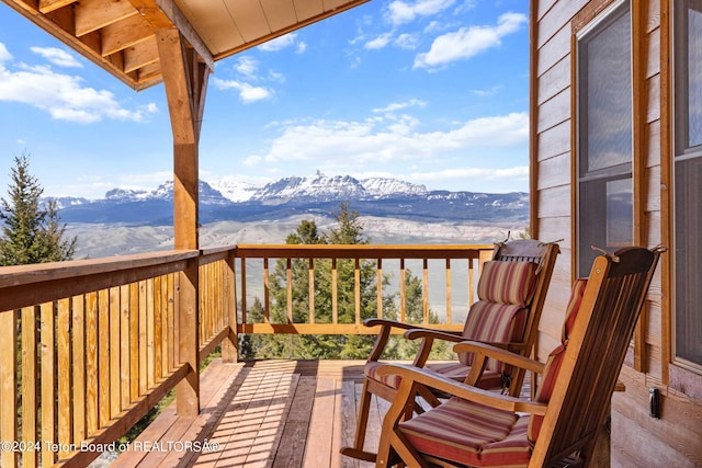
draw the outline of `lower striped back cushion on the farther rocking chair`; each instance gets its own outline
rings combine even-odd
[[[526,309],[509,304],[494,304],[478,300],[471,307],[463,328],[466,340],[508,343],[520,342],[526,326]],[[469,366],[473,355],[462,353],[458,361]],[[487,369],[501,373],[503,365],[495,359],[488,359]]]

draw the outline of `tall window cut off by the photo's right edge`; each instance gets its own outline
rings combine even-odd
[[[675,5],[675,354],[702,365],[702,0]]]

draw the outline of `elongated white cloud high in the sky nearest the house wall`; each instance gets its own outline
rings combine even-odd
[[[417,55],[414,68],[437,68],[449,62],[474,57],[500,45],[503,36],[512,34],[528,22],[521,13],[500,15],[495,26],[461,27],[437,37],[427,53]]]

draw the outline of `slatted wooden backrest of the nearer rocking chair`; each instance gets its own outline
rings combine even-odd
[[[530,466],[592,448],[660,252],[625,248],[595,260]]]

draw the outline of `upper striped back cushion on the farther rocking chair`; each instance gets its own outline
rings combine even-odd
[[[532,262],[485,262],[478,279],[478,299],[525,306],[534,294],[536,267]]]

